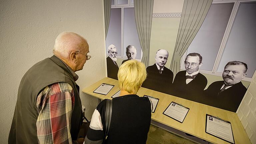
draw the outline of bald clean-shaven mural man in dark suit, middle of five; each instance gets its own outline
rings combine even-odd
[[[168,56],[167,50],[160,49],[156,52],[156,63],[147,67],[148,76],[142,87],[167,93],[173,81],[173,72],[164,66]]]

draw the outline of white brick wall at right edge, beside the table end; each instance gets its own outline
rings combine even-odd
[[[256,71],[237,110],[237,115],[252,144],[256,144]]]

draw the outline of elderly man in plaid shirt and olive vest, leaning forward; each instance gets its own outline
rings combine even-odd
[[[54,55],[33,65],[21,80],[8,143],[78,143],[82,105],[75,72],[90,59],[88,52],[79,34],[57,36]]]

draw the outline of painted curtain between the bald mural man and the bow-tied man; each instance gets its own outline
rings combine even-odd
[[[180,58],[188,49],[208,13],[212,0],[184,0],[176,45],[170,69],[180,71]]]

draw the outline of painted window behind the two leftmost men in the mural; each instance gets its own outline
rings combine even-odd
[[[106,38],[106,52],[110,44],[116,46],[118,52],[117,58],[120,59],[127,59],[126,47],[128,45],[134,45],[137,49],[136,59],[141,59],[142,51],[135,23],[132,0],[112,0],[110,22]]]

